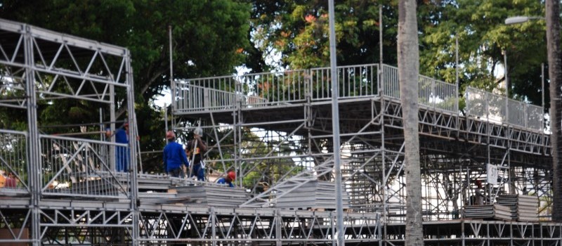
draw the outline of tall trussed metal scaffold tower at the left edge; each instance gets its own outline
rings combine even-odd
[[[84,221],[89,221],[84,227],[100,227],[92,237],[105,235],[110,225],[126,228],[130,235],[126,240],[135,242],[138,228],[131,225],[138,224],[136,143],[45,134],[39,129],[43,122],[38,117],[39,105],[89,101],[104,105],[115,130],[118,99],[126,105],[126,112],[134,112],[129,51],[8,20],[0,20],[0,33],[0,105],[27,115],[26,131],[0,130],[0,170],[14,180],[0,189],[4,198],[0,242],[56,245],[63,237],[62,243],[69,243],[69,238],[79,240],[77,235],[87,231],[74,228]],[[116,98],[116,93],[126,96]],[[134,139],[134,113],[127,120],[131,122],[129,136]],[[116,148],[131,149],[128,183],[115,178]],[[72,205],[48,205],[54,198],[114,199],[125,201],[126,206],[118,211],[77,212]],[[61,229],[61,224],[70,227]]]

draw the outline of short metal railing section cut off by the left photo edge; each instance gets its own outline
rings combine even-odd
[[[0,129],[0,175],[7,180],[4,189],[29,191],[27,133]]]

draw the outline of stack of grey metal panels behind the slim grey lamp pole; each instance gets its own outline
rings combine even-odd
[[[279,189],[290,190],[287,185]],[[342,193],[344,209],[349,208],[348,193]],[[326,181],[309,181],[277,199],[275,207],[286,209],[336,209],[336,185]]]

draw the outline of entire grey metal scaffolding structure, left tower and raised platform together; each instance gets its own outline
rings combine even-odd
[[[115,131],[116,107],[125,103],[135,139],[129,51],[0,20],[0,106],[27,115],[25,130],[0,130],[0,171],[17,181],[0,188],[0,244],[333,245],[334,212],[276,205],[310,181],[334,181],[331,100],[338,96],[342,183],[351,202],[346,243],[402,245],[407,194],[397,69],[337,70],[338,95],[327,67],[176,80],[173,129],[200,122],[208,169],[237,171],[237,186],[253,196],[236,208],[155,203],[146,197],[162,193],[141,194],[138,179],[169,178],[139,174],[136,141],[45,134],[37,115],[41,101],[91,101],[103,105],[100,118]],[[459,97],[455,84],[423,76],[419,103],[426,244],[559,245],[560,224],[462,217],[487,164],[502,170],[499,184],[486,187],[492,200],[526,193],[548,202],[544,109],[471,88]],[[119,148],[131,156],[125,173],[116,171]]]

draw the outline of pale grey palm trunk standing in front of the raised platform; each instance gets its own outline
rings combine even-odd
[[[424,245],[421,224],[421,176],[419,169],[418,74],[419,50],[415,0],[398,4],[398,78],[405,141],[406,246]]]

